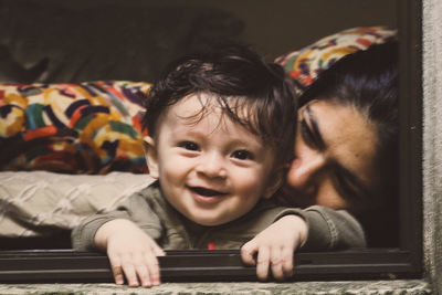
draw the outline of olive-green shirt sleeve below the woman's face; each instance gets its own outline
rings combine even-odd
[[[307,238],[301,251],[327,251],[367,246],[360,223],[346,210],[334,210],[323,206],[306,209],[287,209],[277,219],[297,214],[308,226]]]

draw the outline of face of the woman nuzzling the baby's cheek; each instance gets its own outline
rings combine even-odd
[[[285,188],[288,203],[355,209],[377,183],[376,126],[358,109],[312,101],[298,110],[298,129]]]

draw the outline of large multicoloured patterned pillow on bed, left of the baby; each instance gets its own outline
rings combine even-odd
[[[0,169],[146,172],[148,83],[0,84]]]

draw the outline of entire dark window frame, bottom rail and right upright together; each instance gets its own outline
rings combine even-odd
[[[398,0],[400,40],[400,242],[397,249],[297,253],[293,280],[406,278],[422,275],[421,1]],[[170,251],[162,281],[255,281],[238,251]],[[70,250],[0,252],[0,283],[112,282],[104,254]]]

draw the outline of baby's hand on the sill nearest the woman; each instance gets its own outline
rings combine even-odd
[[[267,280],[271,268],[273,277],[283,281],[292,276],[294,252],[306,236],[305,220],[298,215],[286,215],[245,243],[241,247],[241,257],[244,263],[256,265],[260,280]]]

